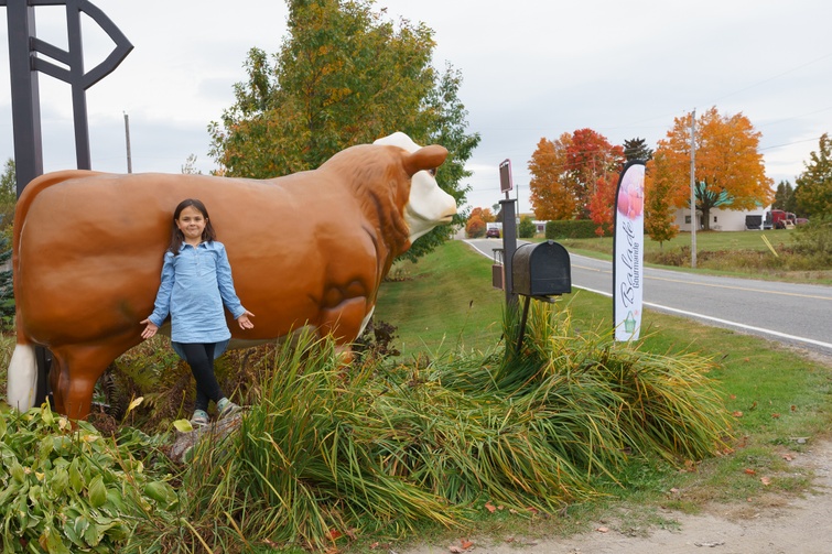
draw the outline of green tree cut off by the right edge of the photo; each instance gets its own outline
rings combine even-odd
[[[796,180],[795,211],[809,218],[832,214],[832,141],[823,133],[818,151],[803,162],[806,170]]]

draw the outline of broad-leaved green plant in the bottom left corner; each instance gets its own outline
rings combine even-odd
[[[3,552],[123,552],[151,515],[174,519],[176,491],[134,452],[136,436],[118,444],[47,404],[0,414]]]

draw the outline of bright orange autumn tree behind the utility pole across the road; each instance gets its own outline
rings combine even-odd
[[[691,115],[676,118],[656,150],[656,186],[667,187],[673,205],[690,206]],[[710,229],[714,208],[744,210],[768,206],[774,181],[766,176],[760,133],[737,113],[721,116],[716,107],[696,120],[694,187],[696,209]]]

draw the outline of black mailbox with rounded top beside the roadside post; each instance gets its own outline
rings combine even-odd
[[[528,243],[511,257],[512,293],[547,297],[572,292],[572,267],[569,252],[548,240]]]

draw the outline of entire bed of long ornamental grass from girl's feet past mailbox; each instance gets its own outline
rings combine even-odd
[[[519,350],[507,344],[350,369],[331,339],[278,348],[238,433],[196,447],[188,525],[164,543],[317,550],[464,523],[486,501],[551,513],[597,495],[596,478],[615,479],[631,454],[682,465],[725,446],[707,360],[579,334],[545,306]]]

